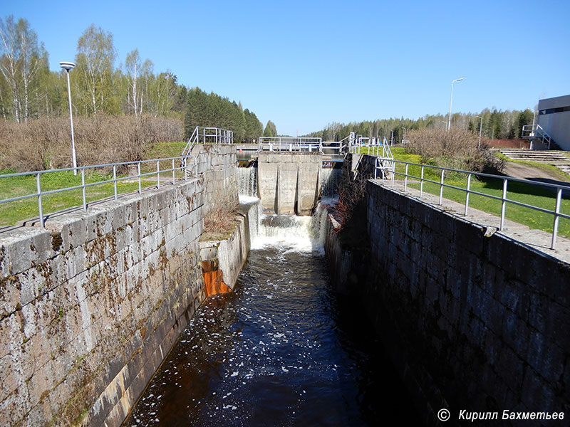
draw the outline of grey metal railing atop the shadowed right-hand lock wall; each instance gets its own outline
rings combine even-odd
[[[374,179],[377,178],[377,171],[378,170],[385,169],[385,167],[383,166],[383,163],[380,160],[381,159],[379,157],[376,158],[375,170],[374,170]],[[405,172],[397,172],[395,170],[395,164],[396,163],[404,164],[405,165]],[[420,169],[420,176],[413,176],[413,175],[408,174],[408,167],[410,167],[410,166],[420,167],[421,168]],[[425,168],[437,169],[438,171],[440,171],[440,181],[433,181],[431,179],[425,178],[424,177]],[[407,189],[408,189],[408,178],[419,179],[420,180],[420,198],[423,196],[423,183],[424,182],[430,182],[432,184],[439,185],[440,186],[439,204],[442,204],[444,187],[465,192],[465,212],[464,212],[464,215],[467,215],[467,211],[469,209],[469,196],[470,196],[470,194],[476,194],[477,196],[483,196],[483,197],[487,197],[488,199],[494,199],[497,201],[501,201],[501,218],[500,218],[500,223],[499,223],[500,224],[499,225],[500,231],[502,231],[504,228],[504,216],[505,216],[505,211],[507,209],[507,204],[522,206],[524,208],[533,209],[534,211],[539,211],[539,212],[542,212],[544,214],[551,214],[554,216],[554,224],[553,224],[552,239],[551,239],[551,246],[550,246],[551,249],[554,249],[554,246],[556,245],[556,236],[558,235],[558,226],[559,226],[560,218],[570,219],[570,215],[562,214],[560,211],[561,201],[562,201],[562,192],[566,191],[566,194],[570,194],[570,186],[548,184],[546,182],[535,182],[535,181],[529,181],[527,179],[511,178],[509,176],[499,176],[499,175],[492,175],[492,174],[482,174],[480,172],[462,171],[460,169],[450,169],[447,167],[430,166],[427,164],[401,162],[399,160],[393,160],[392,161],[392,167],[391,167],[391,170],[389,172],[391,172],[392,186],[394,186],[395,175],[404,176],[404,191],[407,191]],[[464,189],[462,187],[458,187],[458,186],[454,186],[454,185],[450,185],[450,184],[445,184],[444,179],[445,179],[445,173],[446,172],[466,174],[467,175],[467,186],[466,186],[466,188]],[[481,176],[484,178],[493,178],[493,179],[502,180],[502,195],[501,195],[501,197],[494,196],[492,194],[481,193],[480,191],[472,190],[471,189],[472,176]],[[521,183],[527,184],[527,185],[554,189],[556,191],[556,203],[554,206],[554,211],[551,211],[550,209],[541,208],[540,206],[529,205],[529,204],[522,203],[520,201],[508,199],[507,195],[508,195],[509,182],[521,182]]]

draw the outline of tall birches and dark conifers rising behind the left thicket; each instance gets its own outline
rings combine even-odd
[[[74,115],[175,117],[185,121],[187,136],[196,126],[225,127],[234,130],[236,142],[257,138],[264,130],[241,102],[187,88],[170,70],[156,73],[152,61],[141,58],[138,48],[115,66],[118,53],[113,34],[94,24],[78,38],[74,60]],[[48,52],[26,19],[0,18],[0,117],[23,123],[66,114],[66,71],[49,70]]]

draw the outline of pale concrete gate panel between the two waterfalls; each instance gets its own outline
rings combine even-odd
[[[261,205],[280,215],[311,215],[321,188],[320,153],[259,153],[257,179]]]

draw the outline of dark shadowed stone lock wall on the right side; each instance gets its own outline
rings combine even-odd
[[[428,419],[568,414],[570,265],[373,181],[367,202],[359,292]]]

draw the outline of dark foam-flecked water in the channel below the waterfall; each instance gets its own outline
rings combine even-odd
[[[315,252],[254,250],[210,298],[127,426],[420,425],[358,307]]]

